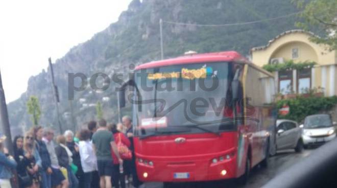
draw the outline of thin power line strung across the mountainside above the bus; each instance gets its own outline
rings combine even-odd
[[[196,24],[196,23],[182,23],[182,22],[174,22],[174,21],[165,21],[162,20],[162,22],[169,23],[169,24],[175,24],[175,25],[183,25],[183,26],[197,26],[197,27],[224,27],[224,26],[242,26],[242,25],[249,25],[253,23],[259,23],[263,21],[270,21],[270,20],[275,20],[275,19],[280,19],[280,18],[285,18],[285,17],[290,17],[294,16],[296,14],[299,14],[301,12],[295,12],[283,16],[278,16],[274,18],[266,18],[266,19],[261,19],[261,20],[256,20],[256,21],[248,21],[248,22],[239,22],[239,23],[227,23],[227,24],[221,24],[221,25],[207,25],[207,24]]]

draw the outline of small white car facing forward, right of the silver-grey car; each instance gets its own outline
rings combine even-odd
[[[303,124],[303,144],[308,146],[322,145],[336,137],[336,131],[329,114],[316,114],[305,117]]]

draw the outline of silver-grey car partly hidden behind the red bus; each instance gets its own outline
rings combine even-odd
[[[276,147],[278,150],[295,149],[296,152],[303,150],[302,128],[299,127],[297,122],[277,120],[276,130]]]

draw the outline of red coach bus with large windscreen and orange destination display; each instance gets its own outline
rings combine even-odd
[[[275,150],[273,75],[237,52],[194,54],[135,68],[128,99],[141,181],[189,182],[249,171]],[[119,93],[125,105],[125,87]]]

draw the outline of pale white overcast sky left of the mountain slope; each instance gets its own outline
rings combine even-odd
[[[118,20],[131,0],[0,2],[0,70],[6,102],[27,90],[28,79],[73,46]]]

